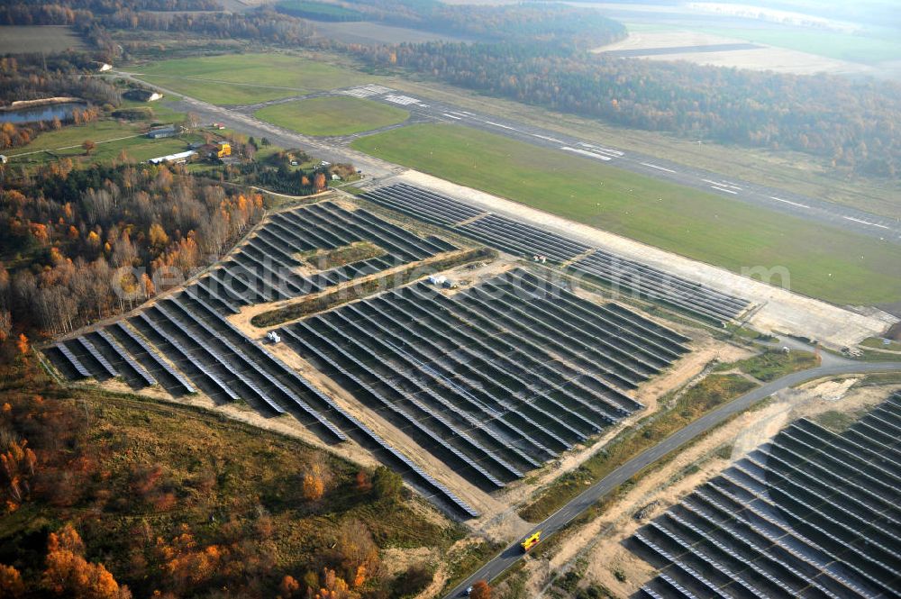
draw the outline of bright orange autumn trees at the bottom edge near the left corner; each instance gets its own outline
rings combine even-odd
[[[72,599],[131,599],[128,587],[120,586],[103,564],[87,561],[84,552],[85,545],[71,524],[51,532],[42,586]]]

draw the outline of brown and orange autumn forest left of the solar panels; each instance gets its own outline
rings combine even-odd
[[[165,166],[7,169],[0,340],[14,327],[59,334],[141,304],[214,261],[263,212],[260,195]]]

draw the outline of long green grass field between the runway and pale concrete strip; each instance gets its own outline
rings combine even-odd
[[[836,304],[901,299],[896,244],[591,159],[437,124],[378,133],[354,141],[352,147],[733,271],[785,267],[792,290]]]

